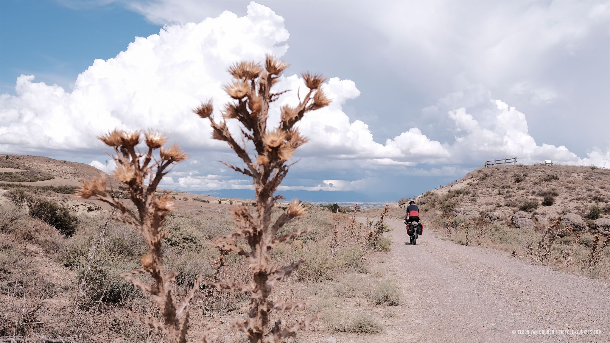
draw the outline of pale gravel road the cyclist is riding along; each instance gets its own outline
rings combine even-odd
[[[362,342],[610,342],[607,284],[454,244],[431,231],[407,245],[403,222],[387,223],[394,244],[386,276],[402,284],[403,305],[384,320],[385,333]],[[525,330],[602,333],[520,333]]]

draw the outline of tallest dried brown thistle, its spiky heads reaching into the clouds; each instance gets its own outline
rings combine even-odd
[[[303,262],[303,259],[293,264],[275,269],[270,264],[270,250],[279,242],[294,239],[303,231],[278,236],[278,230],[287,222],[303,215],[306,209],[299,201],[293,200],[282,215],[271,223],[271,212],[276,201],[283,197],[274,195],[278,186],[286,176],[290,164],[288,160],[296,148],[306,142],[296,123],[311,111],[328,106],[331,102],[321,90],[326,81],[319,74],[303,73],[307,92],[299,98],[296,107],[282,106],[281,119],[277,128],[268,128],[268,110],[285,91],[276,92],[273,86],[288,65],[274,57],[267,56],[264,65],[255,62],[240,62],[229,68],[233,77],[231,84],[224,90],[233,99],[221,111],[223,120],[217,122],[213,118],[212,101],[201,104],[193,112],[201,118],[210,120],[212,138],[227,142],[242,161],[243,167],[226,164],[227,167],[249,176],[253,179],[256,198],[256,209],[253,213],[246,206],[235,206],[232,209],[235,225],[234,233],[223,236],[218,242],[219,247],[234,251],[242,256],[248,256],[252,280],[249,284],[240,283],[206,283],[219,289],[232,289],[250,294],[248,318],[238,320],[234,327],[243,331],[251,343],[279,342],[287,337],[295,337],[296,332],[309,325],[309,317],[290,327],[282,325],[278,319],[269,327],[269,316],[273,311],[285,311],[299,308],[304,302],[275,302],[271,297],[273,286],[284,276]],[[229,132],[226,120],[239,121],[239,137]],[[240,143],[241,142],[241,143]],[[249,147],[253,150],[248,151]],[[237,247],[237,240],[243,239],[249,250]]]

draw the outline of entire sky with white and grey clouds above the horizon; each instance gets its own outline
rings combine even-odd
[[[607,1],[0,1],[0,153],[101,168],[97,135],[152,128],[190,156],[163,187],[248,188],[191,109],[268,53],[290,63],[271,121],[302,71],[333,100],[282,189],[391,201],[486,159],[610,168]]]

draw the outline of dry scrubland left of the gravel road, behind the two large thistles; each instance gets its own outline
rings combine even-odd
[[[57,176],[70,176],[48,180],[55,182],[99,175],[99,170],[88,165],[47,157],[16,157],[4,159],[2,168],[45,170]],[[139,265],[146,251],[143,238],[131,226],[107,222],[111,211],[107,204],[74,198],[76,187],[70,183],[55,185],[0,182],[0,337],[42,336],[66,342],[159,341],[159,336],[148,336],[147,329],[124,311],[147,314],[152,306],[149,298],[119,276]],[[168,228],[163,242],[165,262],[168,268],[179,272],[177,291],[185,294],[200,273],[205,280],[212,278],[218,251],[210,243],[234,229],[233,206],[243,203],[251,211],[256,207],[251,200],[168,190],[160,193],[168,193],[174,202],[174,211],[165,225]],[[114,195],[132,208],[123,187],[117,187]],[[273,218],[284,213],[285,205],[277,204]],[[311,231],[296,245],[292,241],[279,245],[273,253],[273,264],[292,263],[301,256],[307,261],[291,278],[282,281],[274,291],[274,299],[310,300],[309,307],[286,314],[289,320],[315,312],[326,313],[313,325],[316,332],[303,333],[304,337],[383,331],[381,317],[354,315],[359,311],[354,312],[352,307],[360,309],[367,302],[368,308],[387,312],[387,306],[398,304],[400,295],[395,284],[386,280],[379,269],[368,273],[370,267],[366,262],[367,256],[384,254],[373,250],[388,251],[391,240],[380,237],[376,249],[371,250],[367,234],[373,228],[372,221],[370,227],[357,225],[355,218],[348,215],[311,204],[306,207],[309,214],[285,225],[278,234],[297,228]],[[106,222],[108,225],[102,231]],[[248,280],[245,259],[231,253],[225,263],[220,274],[222,280]],[[373,292],[380,287],[381,291]],[[79,292],[81,295],[77,296]],[[218,342],[232,337],[225,324],[246,315],[247,301],[247,295],[232,291],[220,292],[208,301],[202,289],[195,295],[192,311],[195,336],[204,328],[211,328],[212,337]],[[343,304],[342,308],[337,308],[338,304]]]

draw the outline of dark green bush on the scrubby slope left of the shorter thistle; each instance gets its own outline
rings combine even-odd
[[[76,231],[77,219],[70,211],[62,208],[57,201],[40,198],[28,204],[29,214],[53,226],[65,237],[71,237]]]

